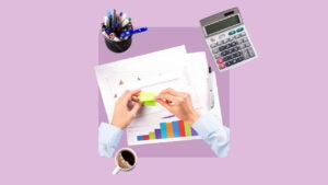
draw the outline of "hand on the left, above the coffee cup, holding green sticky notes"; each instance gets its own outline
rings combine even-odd
[[[137,116],[141,107],[138,96],[141,90],[126,91],[115,103],[112,125],[124,129]]]

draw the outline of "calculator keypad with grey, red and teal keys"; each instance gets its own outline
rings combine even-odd
[[[210,41],[210,50],[220,70],[256,56],[244,27],[230,31],[225,35],[214,35]]]

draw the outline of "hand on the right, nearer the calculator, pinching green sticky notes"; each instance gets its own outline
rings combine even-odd
[[[194,108],[188,93],[166,89],[156,96],[156,102],[189,125],[200,117],[200,114]]]

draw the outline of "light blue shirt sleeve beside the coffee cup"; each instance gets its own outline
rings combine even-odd
[[[122,136],[122,130],[107,123],[102,123],[98,127],[98,152],[101,157],[112,158],[118,142]]]

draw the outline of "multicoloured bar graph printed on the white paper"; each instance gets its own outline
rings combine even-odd
[[[137,136],[137,141],[191,136],[198,136],[198,134],[190,127],[190,125],[183,120],[174,120],[172,123],[160,123],[160,128],[150,130],[148,135]]]

